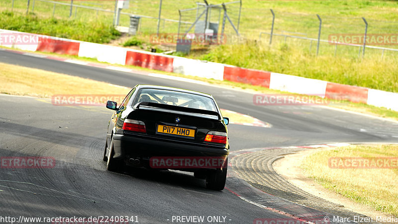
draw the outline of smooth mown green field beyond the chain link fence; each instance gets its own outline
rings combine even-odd
[[[210,4],[221,2],[230,2],[232,0],[208,0]],[[1,10],[10,10],[12,0],[0,0]],[[43,16],[52,16],[53,3],[30,0],[29,11]],[[66,5],[56,5],[55,17],[68,18],[70,13],[70,1],[60,1]],[[179,19],[178,9],[196,7],[196,0],[163,1],[162,18]],[[74,1],[75,4],[98,7],[113,12],[114,1]],[[14,10],[26,12],[27,0],[14,0]],[[239,31],[248,38],[258,39],[260,32],[269,32],[271,29],[272,15],[270,8],[274,9],[276,14],[275,33],[299,32],[305,33],[308,37],[317,37],[319,14],[323,20],[321,38],[327,39],[332,33],[363,33],[364,22],[361,17],[368,20],[369,33],[395,33],[398,25],[398,1],[395,0],[306,0],[306,1],[277,1],[277,0],[243,0],[241,9],[241,19]],[[230,4],[227,6],[228,15],[237,25],[239,14],[239,4]],[[129,9],[123,9],[123,12],[141,14],[147,16],[158,16],[159,0],[134,0],[130,1]],[[73,8],[72,18],[113,20],[112,12],[101,12],[84,8]],[[76,13],[76,15],[75,15]],[[214,10],[211,17],[217,20],[217,12]],[[194,21],[196,11],[183,13],[183,20]],[[129,18],[127,15],[121,15],[121,25],[128,26]],[[142,31],[156,31],[156,19],[142,18]],[[175,22],[161,23],[161,32],[177,32],[178,24]],[[232,29],[227,25],[228,32]],[[305,36],[305,35],[304,35]]]

